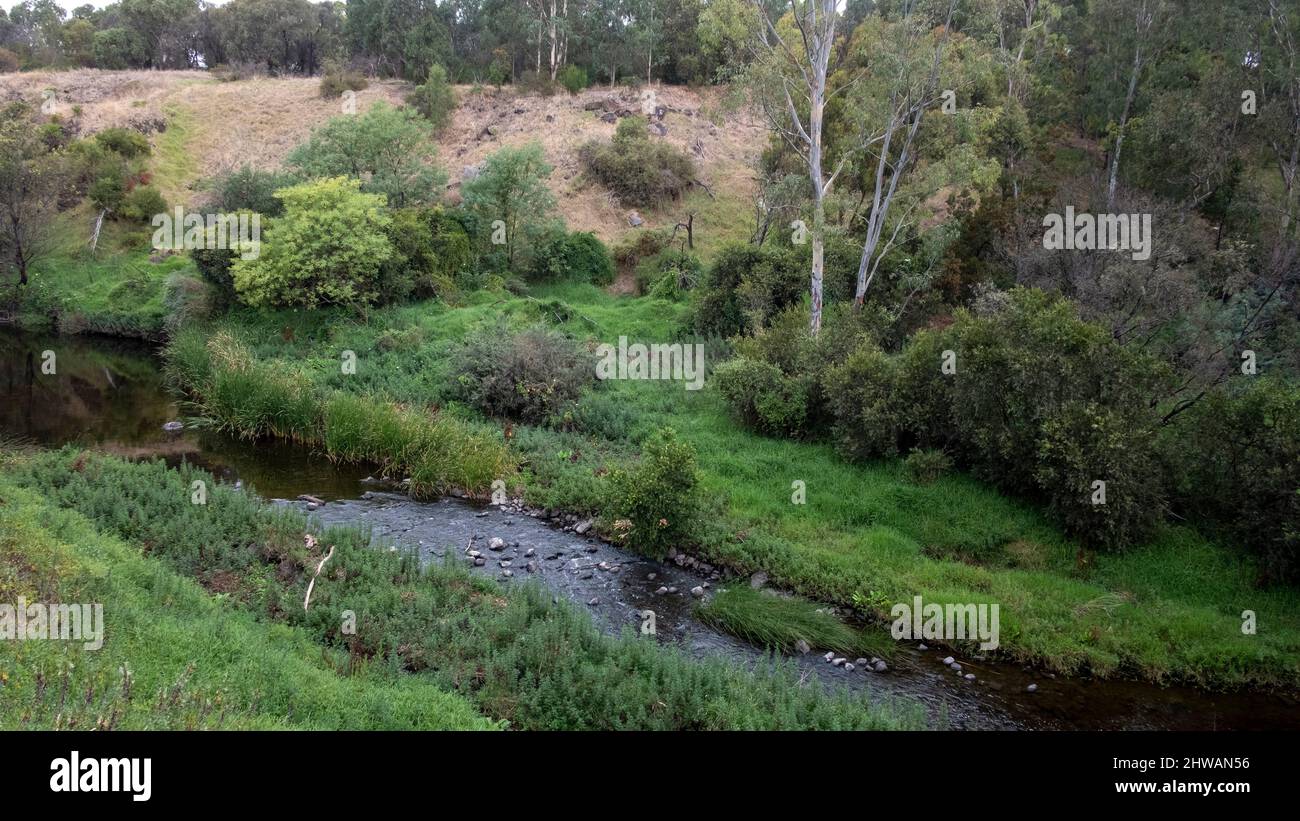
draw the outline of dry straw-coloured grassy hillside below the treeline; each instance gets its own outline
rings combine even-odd
[[[408,83],[374,81],[356,94],[358,109],[378,100],[402,104]],[[172,204],[202,207],[205,178],[240,165],[272,169],[283,162],[311,131],[342,114],[343,101],[320,96],[316,78],[265,78],[221,82],[199,71],[27,71],[0,75],[0,100],[42,104],[53,91],[53,112],[81,135],[125,126],[150,135],[155,177]],[[612,243],[634,231],[632,209],[608,191],[585,181],[577,152],[592,139],[610,139],[618,116],[640,114],[637,91],[590,88],[577,95],[519,94],[511,87],[460,86],[459,108],[438,140],[439,165],[448,174],[447,199],[459,199],[467,169],[503,145],[541,142],[554,166],[550,187],[571,230],[592,231]],[[701,252],[751,230],[754,166],[766,138],[751,113],[732,113],[724,88],[656,87],[653,105],[667,109],[663,139],[690,153],[698,181],[680,203],[638,209],[642,230],[672,229],[694,213]],[[612,113],[602,120],[602,114]],[[472,171],[469,171],[472,173]]]

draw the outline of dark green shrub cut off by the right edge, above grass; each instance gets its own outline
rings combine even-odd
[[[1176,418],[1161,451],[1174,499],[1254,552],[1270,581],[1300,579],[1300,387],[1256,378]]]

